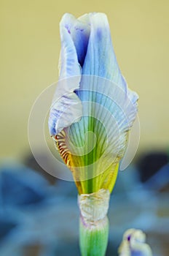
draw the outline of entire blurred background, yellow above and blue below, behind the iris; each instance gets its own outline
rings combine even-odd
[[[65,12],[76,17],[86,12],[106,13],[119,67],[140,97],[140,145],[133,165],[128,173],[119,174],[114,189],[108,255],[116,251],[128,227],[144,229],[154,255],[168,255],[167,0],[0,1],[0,241],[4,248],[0,255],[66,255],[62,251],[66,244],[73,255],[79,255],[76,188],[71,182],[47,176],[31,157],[28,144],[31,106],[58,79],[59,22]],[[68,219],[77,227],[74,232],[66,224]],[[39,222],[44,223],[43,232]]]

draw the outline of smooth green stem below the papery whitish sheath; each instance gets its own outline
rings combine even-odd
[[[109,220],[105,217],[98,225],[79,221],[79,246],[82,256],[104,256],[108,244]]]

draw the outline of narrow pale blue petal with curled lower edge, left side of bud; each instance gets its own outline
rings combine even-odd
[[[82,103],[74,93],[75,89],[79,89],[81,80],[81,67],[70,34],[74,19],[73,15],[66,14],[60,21],[60,77],[48,121],[50,135],[54,136],[63,128],[79,121],[82,116]]]

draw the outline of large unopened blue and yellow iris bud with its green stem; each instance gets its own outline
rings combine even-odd
[[[79,192],[82,255],[103,256],[109,195],[137,114],[138,95],[128,89],[120,72],[105,14],[77,19],[63,15],[60,38],[50,135]]]

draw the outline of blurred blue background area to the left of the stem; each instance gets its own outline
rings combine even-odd
[[[48,256],[52,256],[49,248],[54,247],[55,251],[59,241],[66,237],[63,223],[66,223],[68,212],[71,211],[71,217],[74,209],[76,215],[68,223],[74,225],[74,221],[78,222],[74,192],[73,182],[57,181],[52,186],[39,173],[23,165],[1,167],[0,255],[23,256],[25,246],[40,244],[40,255],[47,252]],[[65,221],[62,222],[63,219]],[[77,238],[78,223],[76,227]],[[71,230],[71,227],[68,228]]]

